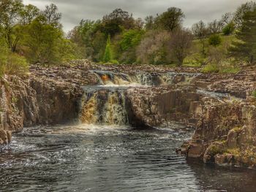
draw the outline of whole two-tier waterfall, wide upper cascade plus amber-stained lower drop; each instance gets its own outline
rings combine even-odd
[[[99,85],[83,87],[80,110],[81,123],[125,125],[128,123],[125,91],[134,86],[157,86],[190,82],[197,74],[167,72],[124,74],[92,71]]]

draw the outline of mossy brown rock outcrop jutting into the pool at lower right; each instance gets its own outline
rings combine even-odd
[[[255,133],[255,103],[206,104],[195,134],[182,153],[189,158],[201,158],[205,163],[255,166]]]

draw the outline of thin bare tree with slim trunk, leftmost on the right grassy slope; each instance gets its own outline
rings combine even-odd
[[[192,33],[200,40],[200,43],[202,44],[202,54],[203,56],[206,56],[206,43],[205,38],[207,35],[207,28],[206,23],[203,23],[202,20],[200,20],[198,23],[195,23],[192,26]]]

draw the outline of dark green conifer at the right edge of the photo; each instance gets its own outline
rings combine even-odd
[[[246,12],[242,18],[241,29],[237,32],[238,41],[230,47],[232,56],[255,64],[256,57],[256,7],[253,11]]]

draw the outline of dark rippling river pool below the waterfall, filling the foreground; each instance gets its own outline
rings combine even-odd
[[[256,173],[187,163],[184,128],[26,128],[0,155],[0,191],[253,191]]]

